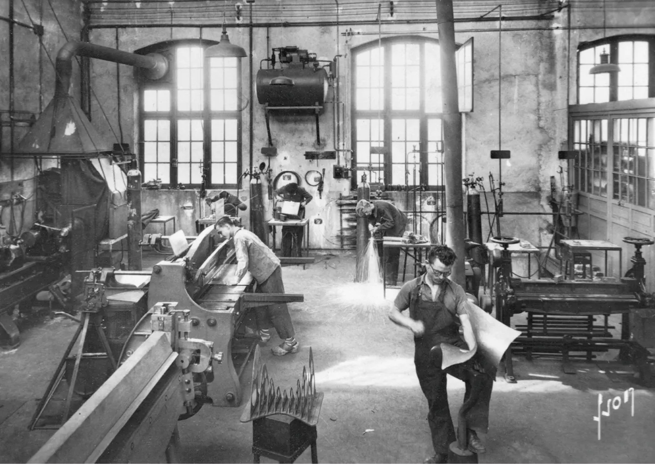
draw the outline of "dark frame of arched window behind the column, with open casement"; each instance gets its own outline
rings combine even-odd
[[[391,81],[391,68],[393,66],[392,62],[392,47],[394,44],[417,44],[419,45],[419,54],[421,58],[425,56],[425,47],[428,43],[439,46],[440,42],[438,39],[417,36],[417,35],[402,35],[396,37],[383,38],[381,40],[370,41],[362,45],[353,47],[350,51],[351,60],[350,60],[350,70],[352,71],[350,77],[350,90],[352,100],[350,104],[350,113],[351,113],[351,123],[350,123],[350,136],[353,149],[353,166],[354,172],[351,176],[351,186],[356,188],[358,185],[358,160],[357,160],[357,121],[359,119],[369,119],[377,120],[380,119],[383,121],[383,147],[386,147],[386,153],[383,155],[383,166],[384,166],[384,183],[389,186],[395,185],[405,185],[405,183],[395,183],[392,182],[392,145],[394,141],[392,140],[392,121],[394,119],[419,119],[419,148],[417,153],[421,157],[421,185],[425,185],[425,189],[428,191],[440,191],[443,190],[443,185],[428,185],[428,154],[434,153],[433,151],[428,151],[428,120],[430,119],[440,119],[441,120],[441,140],[443,141],[443,120],[445,114],[441,112],[426,112],[425,111],[425,96],[426,96],[426,83],[425,83],[425,74],[426,74],[426,65],[424,61],[419,62],[419,110],[394,110],[392,109],[392,81]],[[382,81],[383,97],[384,97],[384,107],[381,110],[358,110],[357,109],[357,56],[361,52],[366,50],[374,50],[378,47],[383,47],[383,67],[384,75]],[[470,47],[471,51],[471,77],[470,77],[470,87],[471,87],[471,106],[470,109],[462,111],[461,113],[466,113],[467,111],[472,111],[474,104],[474,88],[473,88],[473,79],[474,79],[474,50],[473,50],[473,41],[472,38],[468,39],[463,44],[457,45],[456,54],[463,52],[464,47]],[[458,56],[456,57],[456,67],[458,67]],[[458,76],[459,77],[459,76]],[[466,81],[464,81],[466,82]],[[458,85],[460,81],[458,80]],[[460,98],[460,104],[462,99]],[[443,146],[442,146],[443,149]],[[441,161],[440,164],[443,166],[443,151],[440,152]],[[434,163],[432,163],[434,165]],[[407,165],[407,158],[405,158],[405,165]],[[411,164],[409,164],[411,166]],[[443,170],[441,170],[443,172]],[[441,174],[443,176],[443,174]],[[371,187],[375,188],[378,185],[377,182],[369,182]]]

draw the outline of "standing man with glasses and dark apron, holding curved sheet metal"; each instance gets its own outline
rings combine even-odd
[[[433,247],[425,264],[426,273],[403,285],[389,315],[394,324],[414,333],[414,364],[428,400],[428,425],[435,453],[424,464],[445,464],[449,445],[457,440],[448,407],[447,374],[466,385],[462,407],[470,407],[466,415],[468,448],[475,453],[486,450],[476,431],[487,432],[488,429],[489,401],[495,378],[493,367],[487,366],[477,352],[467,362],[443,370],[440,362],[434,363],[430,356],[432,347],[440,343],[449,343],[462,350],[477,348],[466,309],[466,293],[462,286],[448,279],[456,258],[455,252],[447,246]],[[409,316],[402,314],[407,309]]]

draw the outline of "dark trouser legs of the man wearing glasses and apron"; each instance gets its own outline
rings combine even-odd
[[[464,416],[466,426],[476,432],[487,432],[489,429],[489,402],[494,380],[491,375],[480,373],[472,367],[473,360],[477,356],[478,354],[466,363],[453,365],[444,370],[434,366],[426,367],[424,362],[416,363],[419,383],[430,409],[428,425],[434,453],[448,453],[449,445],[457,440],[448,406],[447,374],[464,381],[466,386],[464,404],[462,404],[462,409],[468,411]]]

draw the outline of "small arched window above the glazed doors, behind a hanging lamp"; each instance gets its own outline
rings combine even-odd
[[[601,54],[620,72],[590,74]],[[655,96],[655,36],[620,35],[578,46],[578,104],[599,104]]]

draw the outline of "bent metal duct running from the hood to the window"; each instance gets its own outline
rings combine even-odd
[[[73,57],[82,56],[87,58],[102,59],[110,62],[119,62],[128,66],[141,67],[149,71],[149,79],[160,79],[168,69],[168,61],[161,54],[152,53],[147,56],[132,54],[131,52],[119,51],[104,46],[69,41],[57,53],[55,64],[56,85],[54,88],[55,97],[68,96],[71,87],[71,75],[73,74]]]

